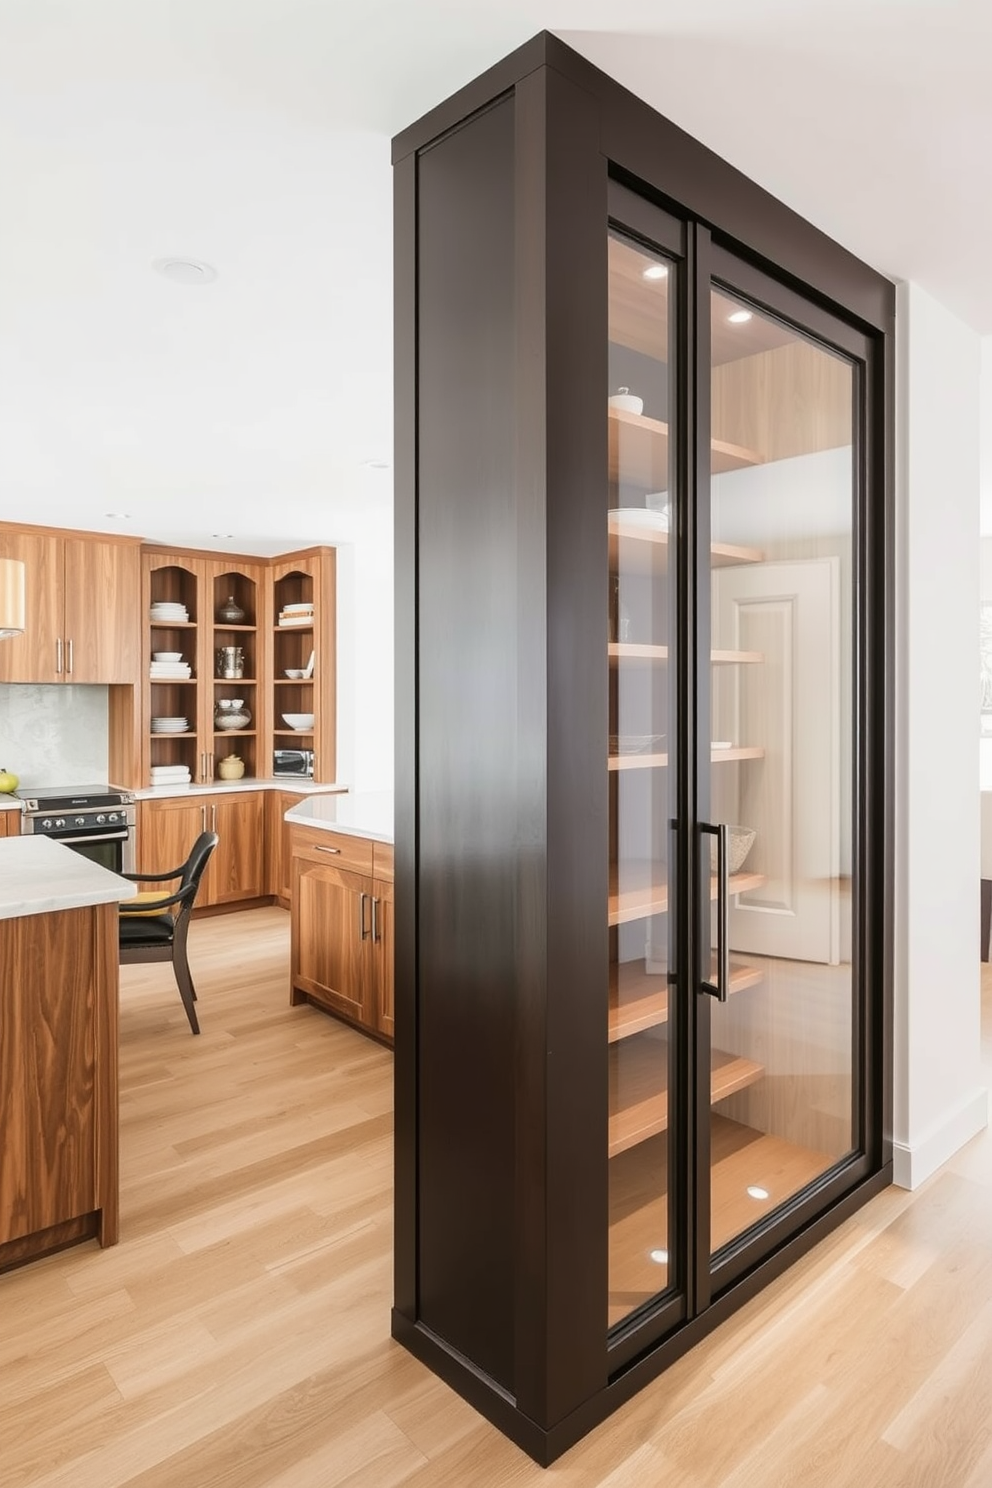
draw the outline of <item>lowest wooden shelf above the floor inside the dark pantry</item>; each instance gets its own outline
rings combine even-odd
[[[739,1054],[712,1049],[709,1101],[726,1100],[760,1080],[764,1070]],[[610,1156],[668,1126],[668,1042],[635,1037],[610,1046]]]

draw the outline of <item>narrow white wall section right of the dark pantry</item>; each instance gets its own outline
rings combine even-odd
[[[895,1181],[988,1122],[980,1070],[980,339],[897,298]]]

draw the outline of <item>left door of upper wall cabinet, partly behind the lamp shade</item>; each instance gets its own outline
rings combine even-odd
[[[62,543],[0,524],[0,558],[24,564],[24,635],[0,643],[0,682],[58,682],[62,635]],[[95,600],[95,597],[94,597]]]

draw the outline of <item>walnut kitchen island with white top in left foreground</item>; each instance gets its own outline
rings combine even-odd
[[[0,839],[0,1271],[117,1240],[117,903],[135,885]]]

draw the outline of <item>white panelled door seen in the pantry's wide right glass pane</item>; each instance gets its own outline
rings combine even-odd
[[[757,832],[757,888],[730,900],[730,948],[840,958],[840,564],[757,562],[712,574],[714,646],[760,652],[714,668],[714,738],[760,745],[714,820]],[[727,795],[732,799],[726,799]],[[735,799],[736,798],[736,799]]]

